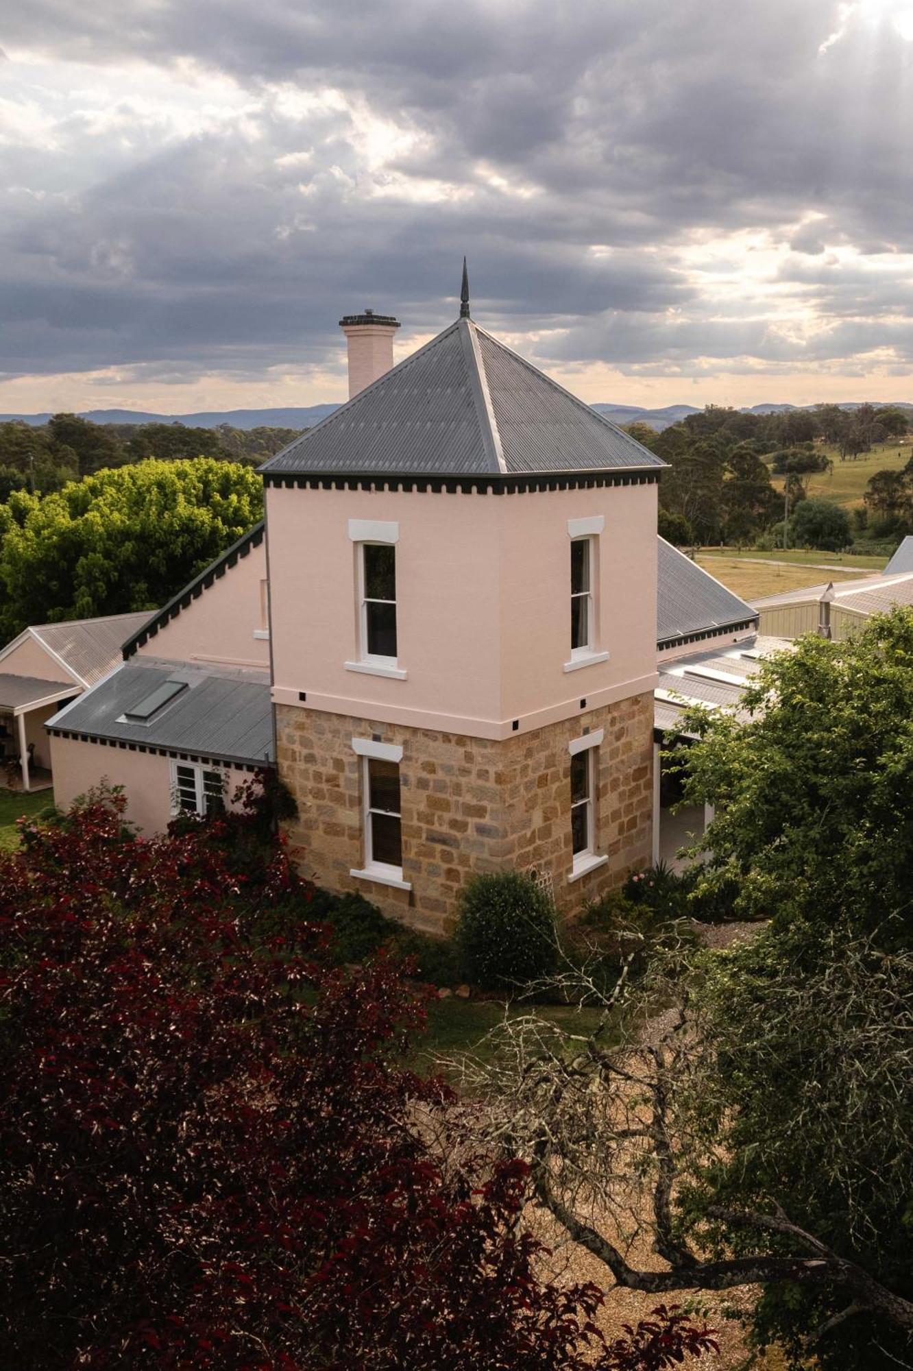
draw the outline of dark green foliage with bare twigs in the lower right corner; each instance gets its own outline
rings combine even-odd
[[[736,1259],[795,1249],[799,1233],[828,1253],[829,1279],[762,1282],[757,1345],[779,1344],[790,1368],[891,1371],[913,1313],[913,951],[886,957],[883,930],[861,934],[846,906],[829,914],[827,930],[798,920],[709,958],[692,986],[688,1126],[705,1160],[683,1209]]]

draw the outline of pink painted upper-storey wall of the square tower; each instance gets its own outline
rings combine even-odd
[[[655,485],[529,495],[267,487],[276,698],[337,713],[495,736],[650,690],[655,679]],[[603,514],[603,644],[570,659],[569,518]],[[399,522],[399,666],[407,680],[345,669],[356,658],[348,520]],[[531,716],[548,714],[533,720]]]

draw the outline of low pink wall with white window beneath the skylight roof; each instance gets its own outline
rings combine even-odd
[[[47,736],[47,735],[45,735]],[[73,738],[51,738],[53,802],[67,809],[77,795],[107,780],[123,786],[127,798],[126,817],[147,838],[163,832],[171,816],[171,769],[167,757],[132,753],[122,747],[101,747]],[[229,769],[225,797],[230,803],[247,772]]]

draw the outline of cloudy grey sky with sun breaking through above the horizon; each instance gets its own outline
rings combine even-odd
[[[913,400],[913,0],[29,0],[0,411],[310,404],[343,313],[587,400]]]

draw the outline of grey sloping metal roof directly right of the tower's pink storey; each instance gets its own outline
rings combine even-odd
[[[658,540],[657,647],[672,647],[710,632],[757,627],[758,614],[716,577]]]

